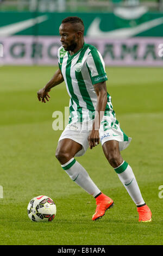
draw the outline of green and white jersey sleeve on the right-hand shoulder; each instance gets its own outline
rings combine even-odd
[[[90,73],[92,84],[108,80],[104,60],[101,53],[96,48],[93,48],[93,50],[89,52],[86,65]]]

